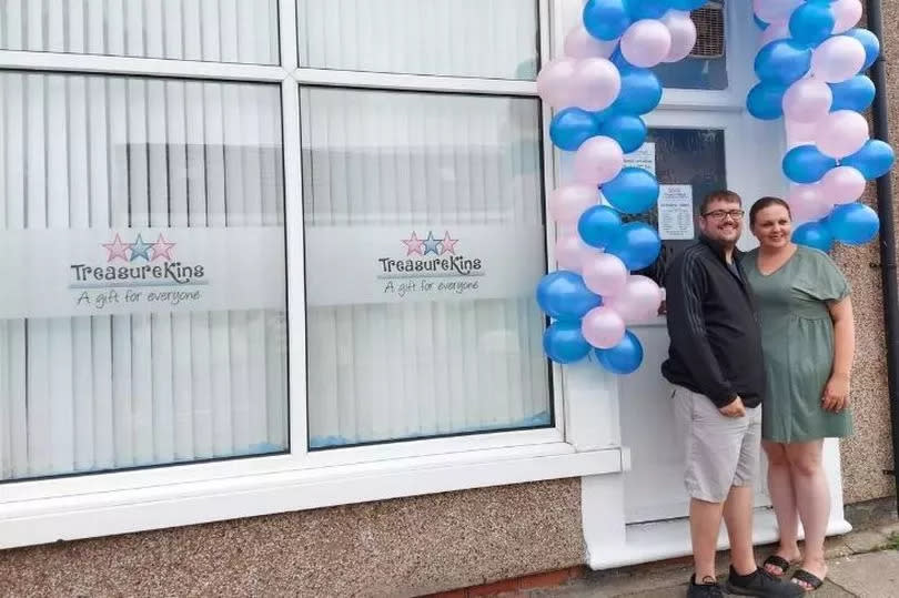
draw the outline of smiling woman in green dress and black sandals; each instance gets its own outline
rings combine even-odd
[[[780,545],[765,568],[815,590],[827,576],[824,540],[830,495],[821,465],[824,438],[851,433],[847,409],[855,353],[849,285],[827,254],[790,241],[789,205],[762,197],[749,211],[759,247],[744,266],[758,302],[765,368],[761,437]],[[797,545],[798,520],[805,556]]]

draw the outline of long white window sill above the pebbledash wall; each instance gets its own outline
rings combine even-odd
[[[626,457],[626,455],[625,455]],[[487,486],[619,473],[566,443],[181,482],[0,504],[0,549]],[[2,488],[0,488],[2,494]]]

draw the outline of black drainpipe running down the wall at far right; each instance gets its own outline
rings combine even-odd
[[[883,13],[881,0],[867,0],[868,29],[883,44]],[[873,105],[873,136],[889,143],[887,100],[887,63],[881,48],[871,65],[871,80],[877,89]],[[896,479],[896,508],[899,513],[899,292],[897,292],[896,226],[892,210],[892,180],[885,174],[877,180],[877,212],[880,216],[880,274],[883,285],[883,323],[887,333],[887,383],[890,395],[892,424],[892,475]]]

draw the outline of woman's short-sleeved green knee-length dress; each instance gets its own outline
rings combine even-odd
[[[848,436],[849,409],[821,407],[834,366],[834,323],[828,304],[850,293],[846,277],[824,252],[799,246],[779,270],[759,272],[758,250],[744,257],[749,285],[758,303],[767,387],[762,405],[762,438],[804,443]]]

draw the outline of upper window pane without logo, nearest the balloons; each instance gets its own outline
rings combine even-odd
[[[535,0],[296,0],[300,64],[534,80]]]

